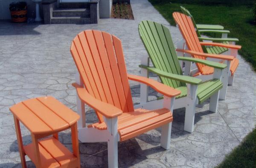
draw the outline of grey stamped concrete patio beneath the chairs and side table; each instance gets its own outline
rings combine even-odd
[[[128,73],[140,75],[140,57],[146,55],[137,27],[141,20],[166,24],[174,43],[179,30],[147,0],[131,0],[135,20],[102,19],[92,25],[44,25],[0,22],[0,168],[20,167],[13,116],[9,107],[27,98],[52,95],[76,111],[76,90],[71,86],[77,72],[69,48],[71,40],[85,29],[98,29],[122,40]],[[218,113],[209,112],[209,102],[196,109],[195,131],[183,131],[185,109],[174,110],[171,148],[160,147],[160,129],[119,144],[119,167],[214,167],[232,151],[256,124],[256,73],[240,56],[227,100],[219,101]],[[140,101],[138,83],[131,83],[134,103]],[[154,90],[151,99],[156,98]],[[96,115],[88,109],[87,123]],[[24,143],[29,131],[22,127]],[[61,133],[61,142],[71,148]],[[82,167],[107,167],[107,143],[80,144]],[[29,160],[29,158],[26,158]],[[32,162],[27,162],[34,167]]]

